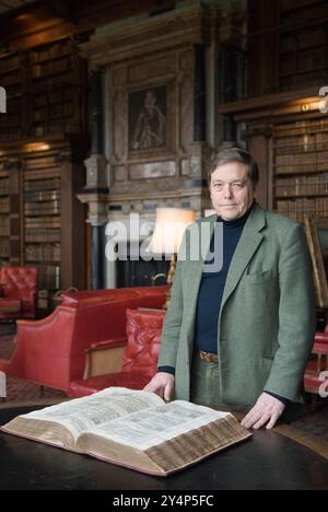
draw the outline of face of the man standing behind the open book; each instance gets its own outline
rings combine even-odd
[[[255,197],[248,165],[239,162],[220,165],[211,175],[210,190],[219,217],[226,221],[243,217]]]

